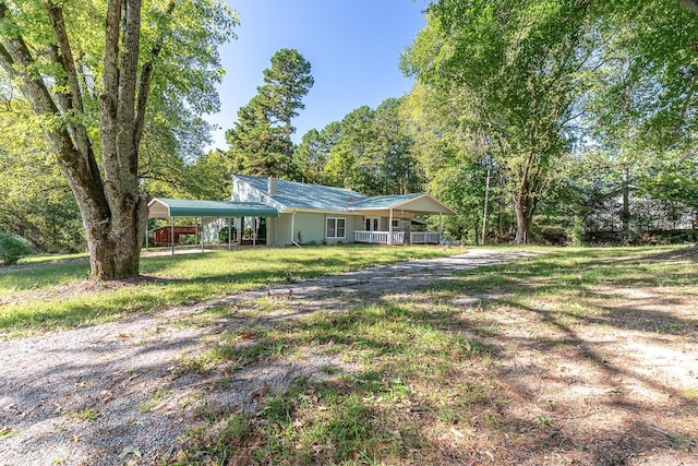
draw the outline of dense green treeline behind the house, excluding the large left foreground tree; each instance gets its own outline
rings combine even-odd
[[[272,58],[226,150],[203,154],[208,128],[168,126],[163,105],[142,143],[143,188],[228,199],[230,174],[240,172],[372,195],[426,191],[459,213],[446,231],[469,242],[575,243],[611,224],[630,241],[653,225],[690,224],[698,15],[676,0],[438,0],[425,14],[401,57],[413,89],[298,144],[292,122],[313,77],[293,49]],[[0,141],[0,230],[40,249],[80,248],[77,211],[51,152],[17,117],[26,104],[12,86],[0,86],[0,99],[10,134]]]

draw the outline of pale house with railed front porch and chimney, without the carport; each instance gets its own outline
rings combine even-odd
[[[232,202],[276,208],[267,218],[267,244],[301,242],[366,242],[383,244],[438,243],[441,231],[413,231],[417,215],[455,215],[425,193],[366,196],[345,188],[305,184],[276,178],[232,176]],[[258,224],[239,220],[237,229]],[[243,228],[244,227],[244,228]],[[253,228],[254,234],[258,230]]]

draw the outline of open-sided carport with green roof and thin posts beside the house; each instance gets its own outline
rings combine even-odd
[[[174,218],[190,217],[201,220],[201,249],[204,250],[204,222],[206,219],[227,219],[230,228],[230,219],[238,217],[278,217],[276,208],[258,202],[232,202],[232,201],[196,201],[183,199],[155,198],[148,202],[148,218],[165,218],[170,220],[170,239],[172,255],[174,254]],[[232,247],[232,235],[228,234],[228,250]],[[253,238],[255,240],[256,238]],[[145,232],[146,248],[148,244],[148,231]],[[254,243],[256,246],[256,243]]]

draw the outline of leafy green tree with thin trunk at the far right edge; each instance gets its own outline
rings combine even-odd
[[[588,107],[598,144],[626,180],[653,198],[698,208],[698,17],[678,3],[599,5],[598,53],[606,59]],[[622,217],[627,230],[627,203]]]

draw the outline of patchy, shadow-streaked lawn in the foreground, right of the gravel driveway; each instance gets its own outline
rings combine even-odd
[[[254,415],[198,406],[167,463],[693,464],[696,249],[546,251],[229,331],[188,370],[301,363],[309,348],[341,363]]]

